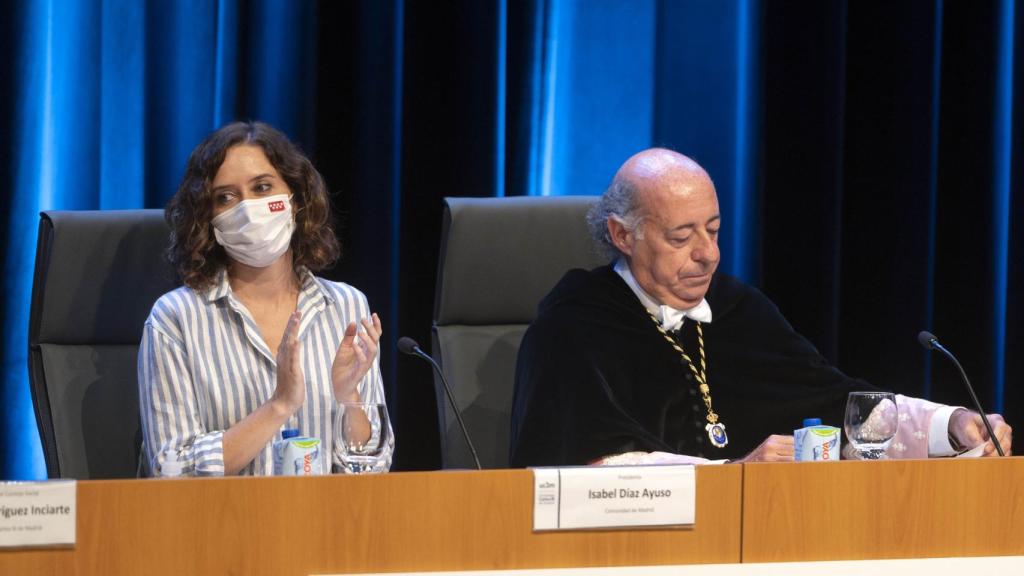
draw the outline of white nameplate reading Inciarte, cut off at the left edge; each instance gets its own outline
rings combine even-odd
[[[0,547],[74,546],[75,481],[0,483]]]

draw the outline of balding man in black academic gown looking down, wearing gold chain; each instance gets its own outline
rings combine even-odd
[[[759,290],[717,272],[718,199],[689,158],[634,156],[588,219],[617,265],[570,271],[541,302],[516,368],[513,466],[627,452],[792,460],[804,418],[842,426],[847,394],[873,389],[831,367]],[[935,406],[911,402],[909,423],[928,429],[942,412],[936,436],[987,440],[977,414]],[[1009,447],[1010,426],[992,419]],[[920,454],[934,454],[918,436]]]

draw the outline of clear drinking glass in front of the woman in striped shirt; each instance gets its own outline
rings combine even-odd
[[[341,463],[349,474],[387,470],[391,454],[391,428],[387,406],[365,402],[345,402],[341,414]]]

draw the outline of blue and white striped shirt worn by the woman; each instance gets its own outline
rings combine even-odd
[[[316,278],[308,271],[301,280],[298,338],[306,400],[288,427],[319,438],[325,454],[339,464],[341,446],[335,430],[341,429],[340,410],[331,385],[331,364],[345,327],[370,318],[370,306],[367,297],[347,284]],[[151,474],[173,458],[185,474],[222,476],[223,431],[271,397],[275,359],[252,315],[231,292],[226,273],[207,291],[181,287],[161,296],[145,321],[138,353],[139,409]],[[364,402],[384,403],[379,357],[358,389]],[[240,474],[272,474],[271,446],[267,443]],[[387,467],[393,449],[391,434],[385,451]]]

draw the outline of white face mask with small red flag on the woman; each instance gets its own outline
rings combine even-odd
[[[295,231],[291,197],[244,200],[213,218],[213,234],[227,255],[254,268],[266,268],[288,250]]]

